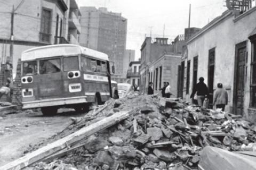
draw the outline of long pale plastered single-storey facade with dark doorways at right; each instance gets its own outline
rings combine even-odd
[[[255,21],[255,7],[243,13],[227,10],[188,41],[183,61],[189,65],[187,100],[198,78],[204,77],[211,107],[217,83],[222,83],[229,96],[226,111],[256,120]]]

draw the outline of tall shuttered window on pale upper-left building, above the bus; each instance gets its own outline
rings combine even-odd
[[[45,43],[51,43],[51,27],[52,27],[51,18],[52,18],[52,11],[43,8],[39,40]]]

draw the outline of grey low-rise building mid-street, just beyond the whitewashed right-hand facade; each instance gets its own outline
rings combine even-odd
[[[160,72],[161,73],[169,72],[170,75],[165,74],[165,76],[167,77],[172,77],[171,74],[174,74],[174,75],[177,74],[179,64],[177,64],[177,70],[174,71],[171,69],[171,67],[163,65],[162,62],[166,60],[166,57],[169,57],[169,55],[167,54],[170,54],[170,53],[173,56],[171,57],[171,60],[175,58],[174,63],[176,63],[178,56],[180,56],[178,60],[181,61],[182,48],[185,45],[184,36],[181,36],[181,35],[178,36],[178,38],[175,38],[172,44],[167,44],[167,40],[168,40],[167,38],[156,38],[154,41],[152,38],[146,37],[145,41],[141,46],[140,89],[142,94],[147,93],[149,82],[153,82],[155,84],[154,88],[157,90],[158,88],[160,88],[160,85],[161,87],[163,86],[164,81],[162,81],[162,79],[161,79],[161,84],[158,85],[158,83],[160,82],[158,78],[159,77],[162,78],[162,75],[161,76],[158,75],[160,74]],[[162,59],[160,60],[159,58],[162,58]],[[170,58],[168,58],[168,60],[169,59]],[[162,63],[162,66],[161,64],[159,65],[159,63]],[[161,70],[161,68],[162,68],[162,71],[159,71]],[[177,81],[177,79],[175,79],[175,81]],[[176,89],[173,90],[174,94],[176,95],[177,84],[173,84],[172,87],[176,87]]]

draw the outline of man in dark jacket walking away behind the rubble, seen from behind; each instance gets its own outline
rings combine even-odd
[[[196,94],[197,92],[197,94]],[[194,98],[195,94],[197,95],[197,103],[199,106],[203,106],[203,102],[205,98],[208,98],[209,96],[209,90],[204,83],[204,78],[199,78],[199,83],[197,83],[193,89],[193,92],[190,96],[190,98]]]

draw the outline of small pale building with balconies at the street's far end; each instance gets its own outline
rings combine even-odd
[[[132,61],[126,74],[127,83],[140,87],[140,61]]]

